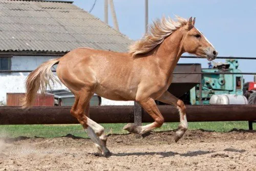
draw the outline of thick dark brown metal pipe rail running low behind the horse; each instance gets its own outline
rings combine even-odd
[[[175,106],[159,105],[165,122],[179,122]],[[38,106],[21,109],[18,106],[0,106],[0,124],[72,124],[78,123],[70,114],[69,106]],[[189,122],[253,121],[256,105],[187,105]],[[134,122],[134,106],[91,106],[90,117],[98,123]],[[145,111],[142,122],[153,122]]]

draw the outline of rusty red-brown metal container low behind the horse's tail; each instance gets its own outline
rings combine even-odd
[[[25,93],[6,93],[8,106],[21,106]],[[34,106],[54,106],[54,95],[46,94],[45,96],[37,94]]]

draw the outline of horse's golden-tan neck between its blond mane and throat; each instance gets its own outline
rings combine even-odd
[[[160,69],[169,77],[176,67],[181,54],[181,40],[183,34],[177,31],[166,37],[155,52]]]

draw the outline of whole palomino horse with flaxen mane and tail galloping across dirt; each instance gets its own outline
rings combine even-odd
[[[164,118],[155,100],[175,105],[180,114],[180,125],[175,134],[177,142],[187,130],[187,119],[183,101],[167,91],[174,68],[184,52],[208,60],[215,59],[218,54],[194,25],[195,18],[172,20],[163,17],[134,42],[129,53],[78,48],[63,57],[44,62],[27,78],[23,107],[32,106],[37,91],[40,89],[45,93],[49,81],[56,80],[51,68],[58,64],[59,80],[75,95],[70,113],[88,131],[99,153],[106,157],[111,155],[106,148],[104,128],[89,118],[89,101],[94,93],[111,100],[139,102],[155,121],[144,126],[131,123],[124,126],[123,129],[137,134],[163,124]]]

